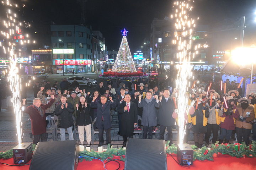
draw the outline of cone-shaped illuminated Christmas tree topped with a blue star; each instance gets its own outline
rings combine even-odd
[[[123,34],[123,39],[120,45],[120,48],[117,53],[116,61],[112,68],[112,72],[118,73],[133,73],[137,72],[132,55],[130,53],[130,48],[126,39],[127,32],[126,29],[121,31]]]

